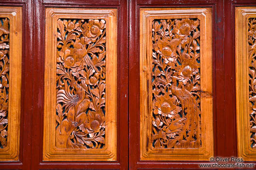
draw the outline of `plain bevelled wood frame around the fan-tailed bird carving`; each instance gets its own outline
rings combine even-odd
[[[46,8],[43,161],[115,161],[117,119],[117,10]],[[104,19],[106,21],[106,133],[99,149],[60,149],[55,145],[57,20]]]

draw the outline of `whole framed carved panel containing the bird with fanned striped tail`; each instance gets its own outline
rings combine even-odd
[[[116,9],[46,8],[43,160],[116,160]]]

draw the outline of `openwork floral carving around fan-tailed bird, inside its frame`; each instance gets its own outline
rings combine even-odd
[[[57,20],[57,147],[105,144],[106,24]]]

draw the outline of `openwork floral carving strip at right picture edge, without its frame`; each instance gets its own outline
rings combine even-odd
[[[256,148],[256,18],[248,22],[251,147]]]

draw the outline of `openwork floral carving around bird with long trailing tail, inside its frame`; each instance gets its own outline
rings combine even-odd
[[[200,27],[198,19],[152,23],[152,144],[199,148]]]

